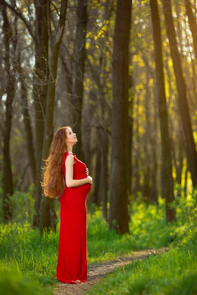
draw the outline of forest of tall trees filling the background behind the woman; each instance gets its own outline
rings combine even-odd
[[[197,185],[196,20],[192,0],[0,0],[3,222],[34,184],[33,228],[56,230],[40,175],[66,125],[110,228],[129,232],[139,194],[175,220],[168,203]]]

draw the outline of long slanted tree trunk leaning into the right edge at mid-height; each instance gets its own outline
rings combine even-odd
[[[192,123],[186,95],[185,80],[183,77],[181,60],[178,52],[176,32],[172,19],[171,0],[162,0],[164,8],[165,26],[169,39],[170,52],[178,89],[179,109],[182,117],[183,130],[187,143],[188,166],[191,172],[193,185],[197,185],[197,153],[193,136]]]

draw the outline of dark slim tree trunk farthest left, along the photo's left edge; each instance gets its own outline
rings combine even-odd
[[[12,103],[15,94],[15,64],[10,62],[10,43],[13,45],[12,30],[8,21],[6,6],[0,0],[0,12],[3,19],[2,31],[3,31],[3,41],[4,41],[4,75],[5,75],[5,88],[4,93],[6,93],[5,100],[5,119],[4,126],[2,130],[3,134],[3,165],[2,165],[2,215],[3,221],[7,223],[11,220],[13,216],[13,208],[9,204],[9,197],[13,194],[13,181],[12,181],[12,171],[11,171],[11,161],[10,161],[10,132],[12,123]],[[15,62],[14,62],[15,63]],[[11,69],[13,66],[13,69]]]

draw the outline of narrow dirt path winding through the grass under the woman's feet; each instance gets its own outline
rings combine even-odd
[[[134,251],[126,257],[118,257],[116,260],[88,265],[88,281],[79,284],[58,283],[54,288],[55,295],[84,295],[85,292],[96,284],[101,277],[114,270],[116,267],[127,265],[133,260],[144,259],[148,255],[167,252],[169,248],[162,247],[160,249],[148,249],[142,251]]]

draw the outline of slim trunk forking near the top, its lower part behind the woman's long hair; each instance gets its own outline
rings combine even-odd
[[[60,19],[59,26],[55,36],[55,40],[51,38],[51,57],[50,57],[50,73],[48,80],[48,89],[47,89],[47,104],[46,104],[46,124],[44,130],[44,144],[42,150],[42,159],[47,158],[49,155],[49,148],[53,140],[53,117],[54,117],[54,101],[55,101],[55,89],[56,89],[56,79],[57,79],[57,67],[58,67],[58,56],[60,43],[62,41],[62,36],[65,29],[66,22],[66,9],[67,9],[67,0],[61,1],[61,10],[60,10]],[[49,21],[49,20],[48,20]],[[42,161],[42,167],[45,162]],[[54,211],[53,200],[49,197],[42,196],[40,202],[40,223],[39,229],[40,233],[43,233],[43,229],[49,230],[51,227],[56,231],[56,214]]]

